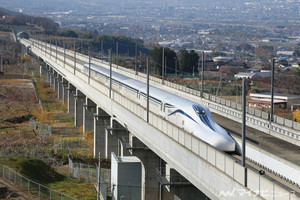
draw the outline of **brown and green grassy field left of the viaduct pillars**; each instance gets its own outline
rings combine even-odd
[[[73,116],[66,113],[66,106],[57,100],[53,88],[39,77],[39,63],[29,56],[20,56],[13,63],[5,65],[4,74],[0,74],[0,163],[7,165],[29,179],[39,182],[47,187],[63,192],[77,199],[96,199],[94,186],[72,178],[65,170],[66,166],[52,168],[41,160],[27,158],[38,155],[67,163],[69,151],[58,149],[54,152],[54,139],[85,144],[86,139],[74,129]],[[37,80],[33,83],[32,79]],[[40,109],[35,95],[42,100],[43,110]],[[40,123],[54,126],[59,129],[70,128],[68,134],[40,136],[40,129],[29,126],[29,119],[33,117]],[[95,162],[92,160],[92,148],[75,148],[71,153],[81,162]],[[5,151],[3,151],[5,150]],[[6,150],[12,152],[14,157],[5,156]],[[16,156],[15,156],[16,154]],[[19,154],[19,156],[18,156]]]

